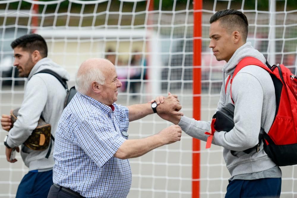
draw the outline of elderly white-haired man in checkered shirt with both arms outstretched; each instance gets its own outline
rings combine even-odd
[[[75,83],[78,93],[64,109],[56,131],[48,197],[127,197],[131,186],[128,159],[181,140],[178,125],[128,140],[129,122],[156,112],[183,115],[178,112],[177,96],[169,95],[160,105],[115,104],[122,83],[115,66],[101,58],[83,62]]]

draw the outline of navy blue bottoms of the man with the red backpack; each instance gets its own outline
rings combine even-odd
[[[278,198],[281,187],[282,178],[236,179],[229,182],[225,198]]]

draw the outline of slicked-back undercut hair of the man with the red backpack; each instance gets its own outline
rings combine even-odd
[[[219,21],[220,26],[228,31],[239,31],[242,34],[242,39],[247,41],[247,33],[249,31],[249,22],[246,15],[236,9],[223,9],[217,11],[211,16],[209,23]]]

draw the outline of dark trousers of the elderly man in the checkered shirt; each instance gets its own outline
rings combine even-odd
[[[71,189],[64,188],[57,184],[53,184],[50,187],[48,198],[83,198],[78,192],[72,191]]]

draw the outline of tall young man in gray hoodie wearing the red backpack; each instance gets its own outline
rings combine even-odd
[[[210,19],[209,47],[218,61],[226,61],[223,68],[223,85],[217,110],[228,103],[233,103],[230,96],[230,82],[226,87],[226,76],[233,75],[241,59],[251,56],[264,64],[266,59],[246,42],[248,21],[246,16],[237,10],[226,9],[216,12]],[[225,76],[226,75],[226,76]],[[224,148],[223,156],[231,174],[225,197],[279,197],[282,172],[263,150],[252,149],[258,144],[260,127],[269,131],[274,120],[276,98],[270,75],[259,66],[249,65],[241,69],[232,82],[234,100],[234,123],[231,131],[215,132],[212,143]],[[157,104],[163,102],[158,97]],[[168,116],[159,114],[163,119],[181,126],[181,129],[192,137],[206,141],[211,132],[211,122],[197,121],[186,116]]]

